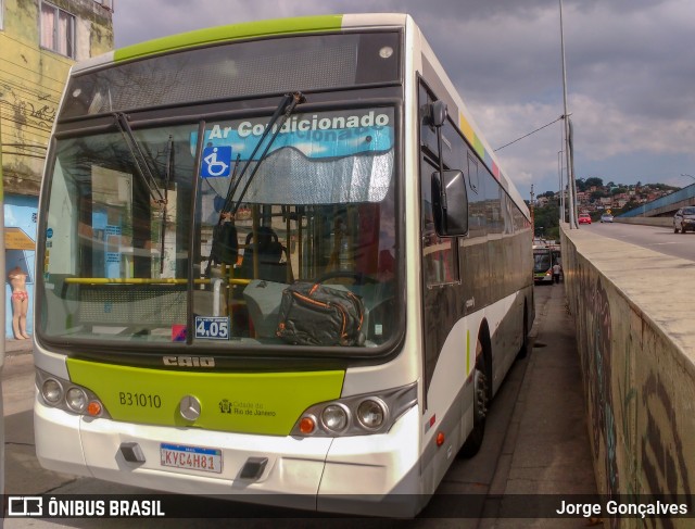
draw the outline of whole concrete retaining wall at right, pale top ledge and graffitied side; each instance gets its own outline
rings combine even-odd
[[[695,263],[567,225],[560,239],[598,492],[695,494]]]

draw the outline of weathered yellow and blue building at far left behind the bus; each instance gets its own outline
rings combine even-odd
[[[113,0],[0,0],[0,148],[5,278],[20,266],[34,289],[38,194],[48,140],[67,73],[113,49]],[[5,281],[8,337],[11,289]],[[33,307],[29,306],[31,332]]]

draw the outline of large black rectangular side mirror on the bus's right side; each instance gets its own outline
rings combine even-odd
[[[468,234],[468,192],[460,171],[432,173],[432,210],[440,237]]]

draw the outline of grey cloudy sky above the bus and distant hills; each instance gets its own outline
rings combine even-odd
[[[116,47],[238,22],[405,12],[421,26],[507,175],[529,198],[559,187],[559,0],[121,0]],[[693,0],[563,0],[574,173],[695,184]],[[693,177],[681,176],[690,174]]]

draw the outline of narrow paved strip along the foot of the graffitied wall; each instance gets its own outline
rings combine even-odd
[[[510,518],[504,496],[597,493],[574,320],[564,287],[536,288],[533,350],[490,489],[491,496],[500,499],[497,519],[483,519],[481,529],[581,527],[571,518]]]

